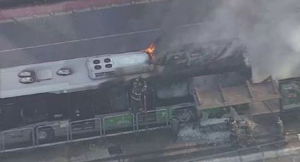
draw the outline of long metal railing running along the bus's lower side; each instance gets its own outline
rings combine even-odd
[[[149,128],[167,127],[168,116],[167,108],[148,111]],[[66,120],[52,125],[6,130],[0,133],[0,153],[143,131],[145,125],[145,114],[134,116],[127,113],[102,119]]]

